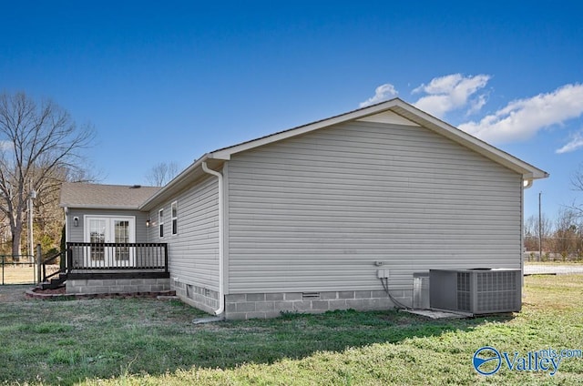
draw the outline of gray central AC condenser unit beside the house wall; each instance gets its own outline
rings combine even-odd
[[[473,315],[517,312],[522,305],[522,270],[429,269],[429,304]]]

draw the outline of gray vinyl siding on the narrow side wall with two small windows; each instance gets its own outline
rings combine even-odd
[[[219,188],[217,178],[203,178],[150,212],[151,242],[169,245],[170,279],[219,290]],[[172,235],[170,205],[178,201],[178,234]],[[158,213],[164,209],[164,237]]]

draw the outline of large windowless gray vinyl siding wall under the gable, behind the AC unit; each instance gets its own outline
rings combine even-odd
[[[522,178],[424,127],[351,122],[233,156],[229,293],[412,287],[520,268]]]

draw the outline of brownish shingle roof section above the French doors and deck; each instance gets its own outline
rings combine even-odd
[[[99,185],[64,182],[61,187],[61,207],[138,209],[159,187],[139,185]]]

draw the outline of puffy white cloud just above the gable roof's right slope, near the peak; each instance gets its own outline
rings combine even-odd
[[[452,74],[435,77],[428,85],[421,85],[413,90],[413,94],[424,92],[414,103],[425,112],[435,117],[444,117],[445,113],[462,107],[470,106],[468,113],[476,113],[486,104],[486,96],[479,95],[476,99],[471,97],[484,88],[490,80],[489,75],[462,76]]]

